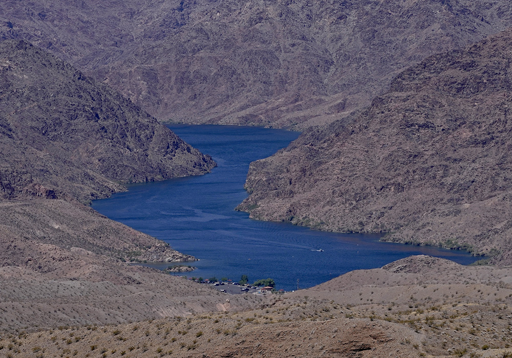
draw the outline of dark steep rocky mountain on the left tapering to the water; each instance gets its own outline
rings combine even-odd
[[[0,43],[0,193],[82,201],[215,163],[111,88],[25,41]]]

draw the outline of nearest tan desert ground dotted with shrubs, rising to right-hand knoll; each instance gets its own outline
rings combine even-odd
[[[0,352],[11,357],[509,357],[510,270],[410,257],[307,290],[269,294],[249,310],[19,332],[0,341]]]

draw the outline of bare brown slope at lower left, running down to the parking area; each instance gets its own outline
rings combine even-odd
[[[29,267],[0,267],[0,332],[120,324],[247,309],[259,302],[254,296],[226,301],[205,285],[80,248],[35,243],[30,249],[35,262]],[[30,267],[35,264],[43,267]]]

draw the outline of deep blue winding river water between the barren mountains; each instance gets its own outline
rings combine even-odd
[[[352,270],[373,269],[410,255],[432,255],[470,264],[459,251],[380,242],[379,235],[313,231],[284,222],[251,220],[234,208],[249,163],[272,155],[297,132],[258,127],[170,125],[189,144],[218,163],[211,173],[163,182],[134,184],[129,191],[95,200],[109,218],[194,255],[198,267],[187,275],[249,282],[273,278],[276,288],[311,287]],[[319,251],[323,250],[323,251]],[[154,264],[165,268],[169,263]]]

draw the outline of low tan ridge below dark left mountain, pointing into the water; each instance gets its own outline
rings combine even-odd
[[[100,266],[98,259],[197,260],[89,207],[61,199],[0,202],[0,237],[0,267],[15,266],[52,279],[97,280],[99,273],[88,273],[83,266]]]

